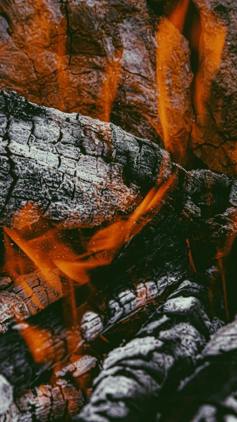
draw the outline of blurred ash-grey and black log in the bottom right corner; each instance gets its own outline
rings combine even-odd
[[[158,421],[237,420],[237,321],[217,331],[198,359],[199,366],[166,403]]]

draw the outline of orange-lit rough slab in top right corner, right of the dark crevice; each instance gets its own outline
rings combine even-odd
[[[211,170],[237,177],[237,8],[231,0],[195,0],[202,33],[192,142]]]

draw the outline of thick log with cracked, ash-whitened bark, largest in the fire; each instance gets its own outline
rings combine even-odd
[[[0,115],[1,225],[14,226],[13,215],[34,201],[63,227],[94,227],[133,210],[156,184],[162,160],[163,180],[170,174],[157,145],[113,124],[4,92]]]

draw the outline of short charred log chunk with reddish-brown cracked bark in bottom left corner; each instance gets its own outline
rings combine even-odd
[[[15,401],[11,396],[0,414],[0,422],[63,421],[75,417],[90,393],[88,381],[96,365],[94,357],[70,356],[50,382],[24,391]],[[2,399],[6,400],[4,392]]]

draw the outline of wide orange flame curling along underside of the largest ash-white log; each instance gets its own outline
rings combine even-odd
[[[159,211],[167,190],[173,188],[175,184],[176,172],[171,174],[161,186],[160,179],[162,179],[161,176],[158,178],[159,185],[148,192],[128,220],[114,222],[99,230],[87,242],[86,252],[80,255],[61,240],[62,229],[58,227],[29,239],[29,224],[36,221],[36,216],[39,218],[40,212],[36,213],[35,204],[28,203],[14,216],[15,228],[3,228],[5,271],[16,279],[19,275],[25,274],[31,262],[33,271],[45,267],[58,267],[69,279],[78,281],[80,284],[89,281],[88,271],[109,265],[119,248],[137,234]],[[39,219],[37,227],[40,227],[40,224],[44,228],[43,222]],[[15,245],[20,249],[20,253],[16,251]],[[39,303],[36,305],[39,307]]]

